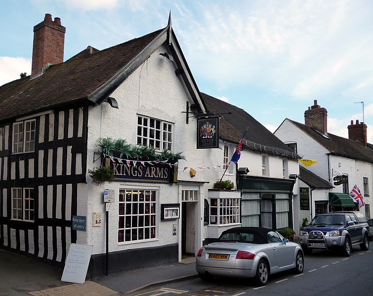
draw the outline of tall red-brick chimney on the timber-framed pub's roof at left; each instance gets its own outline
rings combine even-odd
[[[31,78],[41,75],[42,68],[50,64],[63,62],[66,28],[61,19],[45,14],[44,21],[34,27],[33,61]]]

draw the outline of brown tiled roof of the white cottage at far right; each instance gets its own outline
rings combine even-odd
[[[315,128],[300,124],[298,122],[289,120],[296,127],[304,131],[311,138],[317,141],[320,145],[330,151],[331,154],[342,156],[350,159],[366,161],[373,163],[373,151],[371,148],[364,146],[359,141],[353,141],[340,136],[336,136],[332,133],[323,135],[320,131]],[[372,147],[372,144],[369,144]]]

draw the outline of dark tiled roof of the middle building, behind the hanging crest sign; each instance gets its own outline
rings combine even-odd
[[[207,95],[206,93],[201,93],[201,95],[210,113],[224,114],[223,118],[219,120],[220,139],[238,143],[248,127],[243,141],[244,147],[255,151],[283,155],[289,158],[300,158],[245,110]],[[231,114],[228,114],[229,112]]]

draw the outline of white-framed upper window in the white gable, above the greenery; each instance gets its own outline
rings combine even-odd
[[[137,144],[156,150],[172,150],[173,124],[150,117],[137,116]]]

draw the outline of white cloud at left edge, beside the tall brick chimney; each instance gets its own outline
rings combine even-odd
[[[19,79],[21,73],[31,74],[31,61],[23,57],[0,56],[0,85]]]

